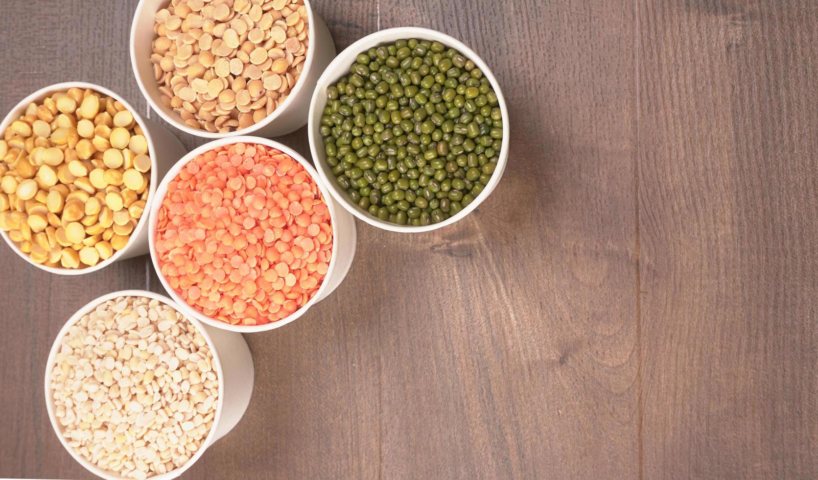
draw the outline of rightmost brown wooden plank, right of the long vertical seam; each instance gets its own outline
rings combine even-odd
[[[814,2],[640,2],[645,478],[818,471]]]

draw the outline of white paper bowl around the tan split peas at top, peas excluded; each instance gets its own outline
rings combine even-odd
[[[137,84],[142,90],[142,94],[147,98],[151,107],[162,116],[170,125],[177,129],[197,137],[204,138],[226,138],[236,135],[256,134],[263,137],[279,137],[300,129],[307,124],[307,112],[309,110],[309,100],[312,89],[321,72],[327,64],[335,57],[335,43],[330,35],[330,30],[326,28],[326,23],[312,9],[309,0],[304,0],[309,18],[309,47],[307,48],[307,58],[304,59],[304,67],[290,95],[281,102],[281,106],[276,108],[272,114],[246,129],[237,129],[226,134],[218,132],[208,132],[205,129],[192,129],[185,125],[182,117],[173,111],[172,108],[164,106],[162,94],[159,91],[160,84],[154,77],[153,65],[151,64],[151,43],[156,34],[154,33],[155,13],[170,4],[169,0],[140,0],[137,11],[133,14],[133,25],[131,25],[131,66],[133,75],[137,78]]]

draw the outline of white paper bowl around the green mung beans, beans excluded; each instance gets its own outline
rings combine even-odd
[[[480,70],[483,70],[483,75],[492,84],[494,92],[497,93],[497,101],[500,103],[500,111],[503,115],[502,146],[497,159],[497,167],[492,174],[492,179],[488,181],[486,188],[483,188],[483,192],[480,192],[480,194],[474,198],[474,202],[471,202],[469,206],[465,206],[462,211],[457,213],[457,215],[449,217],[439,224],[420,226],[393,224],[388,221],[380,220],[378,217],[370,215],[368,211],[363,210],[360,206],[357,206],[357,204],[349,198],[347,192],[344,192],[344,189],[340,188],[338,182],[335,181],[335,175],[332,174],[330,165],[327,165],[326,163],[324,143],[322,142],[321,133],[319,133],[319,129],[321,128],[321,116],[323,115],[324,107],[326,106],[326,88],[335,85],[338,82],[338,79],[349,74],[349,66],[356,61],[359,53],[366,52],[370,48],[377,48],[384,44],[394,43],[396,40],[401,38],[417,38],[418,40],[431,41],[437,40],[438,42],[443,43],[443,45],[445,45],[447,48],[454,48],[458,52],[461,52],[465,57],[471,59],[471,61],[474,61],[474,64],[477,65]],[[492,192],[492,190],[497,187],[497,183],[500,182],[500,178],[502,177],[503,170],[506,170],[506,161],[508,160],[509,156],[509,113],[508,109],[506,108],[506,99],[503,97],[500,84],[497,83],[497,79],[492,74],[492,70],[488,68],[486,62],[484,62],[483,59],[474,52],[474,50],[466,47],[460,40],[438,32],[437,30],[422,29],[420,27],[398,27],[394,29],[380,30],[380,32],[366,35],[366,37],[361,38],[344,49],[344,52],[341,52],[338,57],[335,57],[335,60],[330,63],[330,66],[327,66],[326,70],[324,70],[324,75],[321,75],[321,78],[318,79],[315,92],[312,93],[312,103],[310,103],[309,124],[307,131],[309,134],[309,146],[310,150],[312,151],[312,158],[316,164],[316,170],[318,170],[321,180],[323,180],[324,184],[327,186],[327,188],[329,188],[332,196],[335,197],[335,200],[344,206],[348,212],[365,221],[367,224],[375,225],[375,227],[391,230],[393,232],[428,232],[429,230],[440,229],[455,223],[457,220],[463,219],[465,215],[469,215],[471,211],[474,211],[477,206],[488,198],[488,195]]]

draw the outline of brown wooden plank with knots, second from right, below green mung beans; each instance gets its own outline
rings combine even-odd
[[[510,102],[514,138],[503,182],[479,213],[404,256],[434,252],[431,271],[448,286],[438,296],[407,288],[396,305],[432,306],[447,332],[409,336],[393,318],[382,341],[401,360],[389,376],[429,378],[414,401],[384,398],[396,439],[384,461],[414,464],[420,477],[636,472],[634,90],[622,40],[631,20],[591,7],[516,2],[497,12],[480,3],[449,17],[456,2],[416,2],[408,11],[445,19],[429,26],[484,54]],[[407,11],[382,2],[381,14],[385,28],[404,24]],[[402,432],[420,442],[407,448]]]

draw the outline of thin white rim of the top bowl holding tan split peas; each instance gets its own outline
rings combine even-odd
[[[304,6],[307,7],[307,17],[309,20],[308,24],[308,37],[310,39],[311,46],[307,48],[307,55],[303,61],[303,70],[301,71],[301,76],[306,78],[310,68],[312,68],[312,61],[315,55],[312,53],[312,38],[315,38],[315,21],[313,18],[315,16],[314,11],[312,10],[312,5],[310,4],[310,0],[303,0]],[[154,16],[155,12],[151,13],[151,17]],[[131,70],[133,71],[133,76],[137,79],[137,84],[139,85],[139,90],[142,91],[142,96],[145,97],[147,102],[151,106],[151,110],[158,113],[163,120],[168,122],[170,125],[173,125],[177,129],[182,130],[186,134],[195,135],[196,137],[202,138],[230,138],[236,136],[244,136],[244,135],[252,135],[257,132],[259,129],[263,129],[267,125],[270,125],[273,121],[275,121],[279,115],[281,115],[288,106],[292,103],[292,99],[296,97],[296,95],[301,91],[303,88],[304,82],[299,81],[295,82],[295,86],[290,90],[290,93],[284,99],[284,102],[281,102],[276,110],[272,111],[270,115],[264,117],[264,120],[261,120],[257,124],[250,125],[244,129],[236,129],[232,132],[227,132],[226,134],[220,134],[218,132],[209,132],[205,129],[193,129],[186,125],[184,122],[180,121],[180,118],[173,118],[172,115],[169,115],[167,112],[164,111],[165,106],[160,105],[160,101],[154,99],[154,96],[151,93],[148,93],[148,89],[146,85],[142,82],[142,79],[139,78],[137,75],[138,67],[137,67],[137,55],[136,55],[136,42],[137,42],[137,21],[139,20],[140,16],[147,15],[146,11],[146,0],[139,0],[139,4],[137,5],[136,11],[133,12],[133,21],[131,22],[131,33],[130,33],[130,40],[128,43],[128,51],[131,55]],[[153,38],[150,38],[150,41],[153,41]],[[155,83],[155,82],[154,82]],[[158,85],[158,84],[157,84]],[[176,116],[176,114],[174,112]]]

